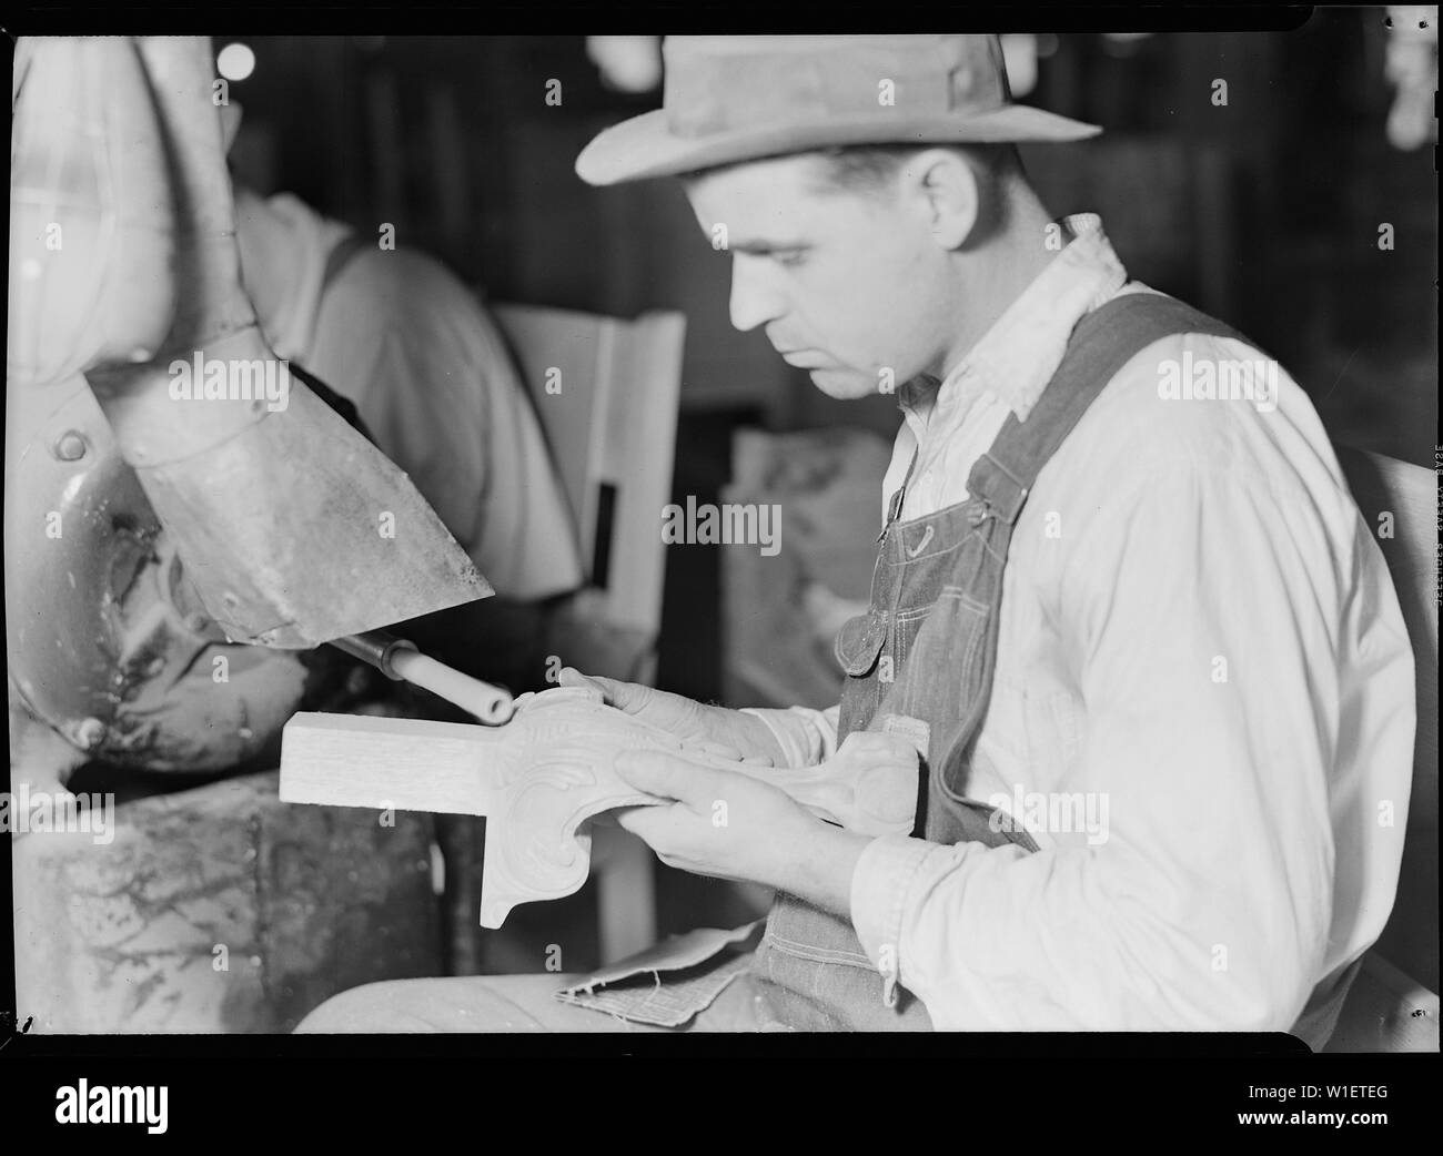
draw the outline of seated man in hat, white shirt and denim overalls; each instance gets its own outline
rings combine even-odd
[[[1392,904],[1413,662],[1302,389],[1128,281],[1097,216],[1042,206],[1014,144],[1098,130],[1013,104],[996,37],[672,37],[665,59],[664,107],[577,172],[683,177],[730,254],[737,329],[831,396],[895,391],[903,424],[838,708],[592,682],[778,765],[903,737],[915,827],[866,837],[747,775],[622,758],[672,800],[619,814],[662,862],[776,889],[759,943],[563,983],[380,984],[304,1029],[1325,1042]]]

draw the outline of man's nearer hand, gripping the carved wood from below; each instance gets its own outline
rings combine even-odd
[[[769,783],[677,755],[628,751],[616,758],[616,773],[638,790],[675,800],[616,813],[668,866],[850,912],[851,873],[867,836],[824,823]]]

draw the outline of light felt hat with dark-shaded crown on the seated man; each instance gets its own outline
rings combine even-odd
[[[996,36],[668,36],[662,107],[576,159],[590,184],[848,144],[1082,140],[1013,104]]]

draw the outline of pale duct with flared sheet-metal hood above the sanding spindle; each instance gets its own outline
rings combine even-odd
[[[85,375],[235,641],[309,649],[486,597],[407,476],[267,347],[212,82],[205,37],[23,46],[7,388]],[[192,365],[203,391],[173,372]]]

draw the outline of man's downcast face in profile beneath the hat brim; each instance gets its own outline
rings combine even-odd
[[[703,174],[687,196],[707,239],[724,226],[732,324],[762,326],[833,398],[937,372],[948,340],[945,251],[925,197],[823,187],[823,161],[782,157]]]

